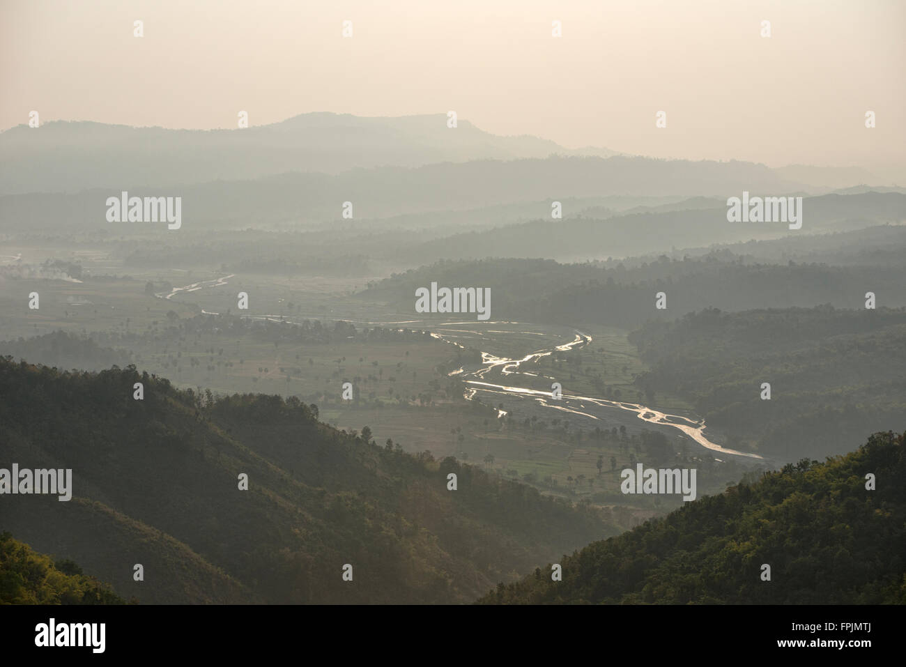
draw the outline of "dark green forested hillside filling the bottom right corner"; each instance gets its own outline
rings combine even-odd
[[[699,498],[564,556],[562,581],[545,565],[480,602],[904,604],[904,439],[875,433],[846,456]]]

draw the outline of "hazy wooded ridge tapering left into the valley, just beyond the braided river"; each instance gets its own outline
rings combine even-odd
[[[906,234],[899,236],[906,248]],[[906,305],[906,267],[828,266],[790,261],[763,264],[731,253],[621,263],[560,264],[545,259],[443,261],[370,285],[363,298],[411,312],[415,290],[482,286],[491,290],[491,318],[573,326],[607,324],[634,329],[650,320],[673,320],[703,308],[863,307],[865,292],[879,305]],[[616,265],[616,266],[614,266]],[[866,286],[867,285],[867,286]],[[655,308],[663,292],[666,308]],[[442,316],[442,315],[439,315]]]

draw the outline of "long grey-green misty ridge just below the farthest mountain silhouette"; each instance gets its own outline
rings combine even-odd
[[[135,197],[181,197],[182,229],[246,228],[266,222],[342,223],[344,201],[352,202],[355,219],[520,202],[538,202],[535,216],[550,218],[551,202],[564,198],[722,195],[726,201],[728,193],[741,196],[743,190],[781,195],[798,189],[764,165],[750,162],[626,157],[473,160],[418,168],[351,169],[336,175],[294,172],[169,189],[150,187],[147,180],[129,180],[127,174],[124,169],[106,189],[74,195],[0,197],[0,229],[104,230],[128,235],[137,223],[110,223],[105,218],[106,199],[119,197],[122,189]],[[728,225],[726,218],[724,224]],[[147,230],[149,225],[138,227]],[[168,232],[166,226],[160,227],[161,233]]]

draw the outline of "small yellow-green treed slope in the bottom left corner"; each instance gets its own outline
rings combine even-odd
[[[0,533],[0,604],[124,604],[72,561],[53,562]]]

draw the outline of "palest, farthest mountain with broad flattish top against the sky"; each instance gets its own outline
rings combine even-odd
[[[531,136],[501,137],[447,114],[363,118],[305,113],[235,130],[133,128],[89,121],[19,125],[0,133],[0,195],[92,188],[173,188],[211,180],[258,179],[284,171],[335,174],[384,165],[615,155],[567,150]]]

